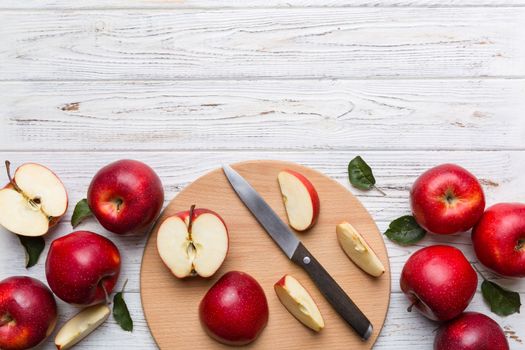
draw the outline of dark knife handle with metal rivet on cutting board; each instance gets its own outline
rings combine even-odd
[[[368,318],[302,243],[295,250],[292,261],[308,273],[335,311],[363,340],[372,335],[373,327]]]

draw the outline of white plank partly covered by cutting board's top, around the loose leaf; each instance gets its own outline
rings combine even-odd
[[[347,164],[357,154],[374,169],[377,185],[387,196],[377,191],[362,192],[348,183]],[[157,171],[162,179],[166,200],[199,176],[220,167],[250,159],[295,161],[317,169],[336,179],[355,193],[376,221],[391,221],[409,212],[408,191],[414,180],[426,169],[437,164],[458,163],[476,174],[484,184],[489,204],[496,201],[522,201],[525,187],[520,186],[525,172],[524,151],[337,151],[337,152],[2,152],[16,167],[33,161],[54,170],[69,191],[71,205],[86,196],[91,178],[98,169],[121,158],[142,160]],[[2,175],[5,182],[7,178]]]

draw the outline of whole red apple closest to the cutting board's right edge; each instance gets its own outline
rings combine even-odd
[[[468,306],[478,276],[459,249],[434,245],[410,256],[401,272],[400,285],[424,316],[448,321]]]

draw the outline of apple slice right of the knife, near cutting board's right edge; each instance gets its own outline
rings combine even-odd
[[[379,277],[385,272],[381,260],[352,225],[342,222],[336,226],[336,233],[341,248],[354,264],[374,277]]]

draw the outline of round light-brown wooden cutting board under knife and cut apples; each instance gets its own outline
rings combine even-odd
[[[142,307],[149,328],[161,349],[227,349],[202,329],[198,308],[207,290],[225,272],[244,271],[263,287],[270,308],[268,326],[247,347],[253,349],[370,349],[385,321],[390,301],[390,267],[386,248],[374,220],[347,189],[329,177],[295,163],[249,161],[233,165],[285,221],[277,174],[292,169],[305,175],[315,186],[321,201],[317,224],[299,238],[326,270],[348,293],[374,326],[363,342],[336,314],[306,273],[289,261],[270,236],[233,192],[221,169],[214,170],[186,187],[161,215],[188,210],[192,204],[219,213],[228,226],[230,250],[219,271],[210,279],[177,279],[157,253],[157,227],[149,237],[140,275]],[[336,238],[335,225],[348,221],[361,232],[386,267],[373,278],[362,272],[345,255]],[[157,224],[158,226],[158,224]],[[273,285],[284,274],[296,277],[311,293],[325,319],[320,333],[310,331],[281,305]]]

